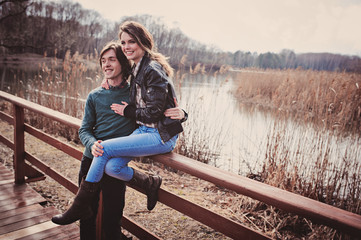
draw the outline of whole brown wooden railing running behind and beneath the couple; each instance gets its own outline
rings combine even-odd
[[[0,91],[0,98],[13,105],[14,116],[0,112],[0,118],[14,125],[14,142],[11,142],[2,135],[0,135],[0,141],[14,150],[15,182],[24,183],[41,180],[44,179],[44,174],[46,174],[69,191],[76,193],[78,189],[77,185],[63,177],[62,174],[58,173],[55,169],[47,166],[40,159],[25,151],[24,134],[27,132],[78,160],[81,159],[82,152],[24,123],[24,109],[28,109],[31,112],[75,129],[80,127],[81,120],[2,91]],[[151,158],[174,169],[214,183],[217,186],[233,190],[236,193],[249,196],[279,209],[309,218],[314,222],[331,226],[347,234],[361,236],[361,215],[223,171],[179,154],[168,153],[156,155]],[[32,168],[27,162],[36,166],[41,172]],[[141,191],[140,189],[137,190]],[[252,230],[238,222],[209,211],[162,188],[159,191],[159,201],[230,238],[270,239],[269,236],[261,232]],[[101,225],[101,214],[99,214],[99,216],[98,226]],[[122,220],[122,226],[140,239],[160,239],[155,234],[125,216]],[[98,239],[101,238],[101,231],[98,231]]]

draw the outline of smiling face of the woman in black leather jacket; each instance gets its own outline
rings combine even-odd
[[[128,33],[123,32],[120,36],[120,44],[124,55],[128,60],[134,61],[136,64],[142,59],[145,51],[138,45],[137,41]]]

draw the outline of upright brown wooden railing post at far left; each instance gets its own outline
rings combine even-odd
[[[25,182],[24,109],[14,106],[14,171],[15,183]]]

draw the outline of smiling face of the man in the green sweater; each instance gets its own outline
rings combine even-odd
[[[122,67],[113,49],[109,49],[103,54],[101,63],[105,78],[115,80],[121,76]]]

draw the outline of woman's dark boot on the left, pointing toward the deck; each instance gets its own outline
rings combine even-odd
[[[87,182],[83,179],[73,204],[63,214],[51,218],[53,223],[59,225],[71,224],[79,219],[87,219],[92,216],[90,204],[92,199],[99,194],[99,183]]]

